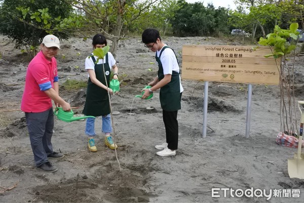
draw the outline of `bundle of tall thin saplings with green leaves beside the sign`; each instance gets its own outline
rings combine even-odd
[[[275,26],[274,32],[266,36],[261,37],[259,44],[262,46],[269,46],[271,49],[270,54],[264,57],[274,57],[277,62],[277,67],[280,73],[280,91],[281,91],[281,102],[280,102],[280,118],[281,118],[281,131],[295,132],[294,126],[297,126],[296,114],[296,101],[294,97],[294,60],[292,67],[289,67],[287,61],[295,54],[296,39],[299,35],[297,32],[298,23],[292,23],[289,29],[281,29],[278,25]],[[287,39],[291,40],[289,44]],[[295,117],[294,117],[295,116]],[[293,122],[295,120],[295,125]],[[297,129],[297,128],[296,128]],[[298,131],[298,129],[297,129]],[[297,132],[298,134],[298,132]]]

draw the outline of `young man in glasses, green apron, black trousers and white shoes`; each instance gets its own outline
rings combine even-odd
[[[160,89],[160,102],[163,109],[163,121],[166,129],[166,142],[156,145],[159,156],[174,156],[178,146],[177,111],[181,108],[180,100],[183,88],[180,83],[179,65],[172,49],[162,42],[156,29],[145,29],[142,33],[144,46],[156,52],[155,58],[159,66],[158,76],[144,89],[142,99],[147,98],[153,91]]]

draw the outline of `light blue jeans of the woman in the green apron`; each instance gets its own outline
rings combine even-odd
[[[111,116],[110,114],[102,117],[102,128],[101,132],[103,133],[111,133],[112,132],[112,126],[111,126]],[[86,124],[86,131],[87,136],[95,136],[95,118],[89,117],[87,118],[87,124]]]

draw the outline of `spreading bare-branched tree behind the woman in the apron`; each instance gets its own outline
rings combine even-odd
[[[150,7],[159,2],[159,0],[65,1],[85,13],[87,24],[83,29],[93,33],[102,33],[112,41],[110,52],[113,55],[116,55],[118,42],[123,37],[124,27],[142,16],[148,16]]]

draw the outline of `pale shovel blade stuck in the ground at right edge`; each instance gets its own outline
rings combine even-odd
[[[288,159],[288,175],[290,178],[304,179],[304,159],[301,157]]]

